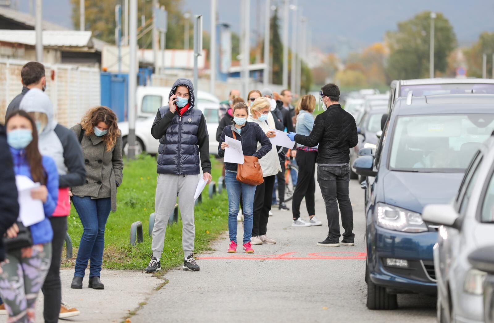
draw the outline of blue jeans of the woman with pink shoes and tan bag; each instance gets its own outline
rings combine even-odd
[[[237,215],[239,214],[240,194],[242,193],[244,214],[244,243],[250,242],[254,219],[255,185],[248,185],[237,180],[237,173],[225,172],[226,192],[228,193],[228,232],[230,241],[237,242]]]

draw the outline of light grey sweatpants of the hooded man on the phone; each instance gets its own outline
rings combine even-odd
[[[156,185],[155,225],[151,249],[153,257],[161,258],[165,244],[166,225],[175,208],[178,196],[178,207],[182,217],[182,249],[184,255],[194,251],[196,226],[194,225],[194,194],[196,193],[199,175],[159,174]]]

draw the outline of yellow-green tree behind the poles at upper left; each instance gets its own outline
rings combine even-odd
[[[92,31],[94,37],[115,43],[115,6],[122,4],[121,0],[84,0],[85,11],[85,30]],[[144,2],[144,5],[143,5]],[[168,11],[168,30],[166,32],[166,48],[183,48],[184,43],[184,28],[185,18],[181,8],[183,0],[159,0],[160,5],[165,5]],[[72,21],[75,29],[79,29],[79,0],[71,0],[72,3]],[[152,17],[152,2],[150,0],[138,0],[138,15],[139,17],[145,13],[146,20]],[[145,9],[143,11],[143,8]],[[138,21],[140,27],[141,21]],[[191,23],[192,26],[192,23]],[[194,35],[194,28],[190,28],[191,37],[190,44]],[[146,35],[138,40],[139,47],[152,47],[152,33],[149,31]],[[190,45],[189,45],[190,46]],[[192,48],[192,47],[190,47]]]

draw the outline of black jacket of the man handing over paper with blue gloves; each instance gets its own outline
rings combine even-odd
[[[317,163],[350,162],[350,148],[359,142],[357,124],[351,114],[333,104],[316,117],[310,135],[295,135],[295,142],[308,147],[319,144]]]

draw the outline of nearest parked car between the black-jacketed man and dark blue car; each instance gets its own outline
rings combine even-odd
[[[357,146],[350,148],[350,165],[358,158],[358,153],[362,148],[371,148],[375,151],[377,142],[381,137],[381,119],[387,112],[387,106],[374,108],[364,114],[364,117],[357,124],[357,133],[359,143]],[[350,179],[357,179],[358,174],[353,167],[350,167]]]

